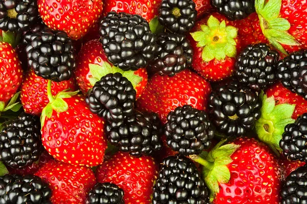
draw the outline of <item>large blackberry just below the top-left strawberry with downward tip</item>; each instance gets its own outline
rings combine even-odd
[[[65,32],[45,28],[30,36],[26,47],[28,64],[47,80],[69,80],[76,67],[72,40]]]

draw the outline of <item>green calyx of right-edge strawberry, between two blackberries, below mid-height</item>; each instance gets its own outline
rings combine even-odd
[[[262,91],[261,117],[256,121],[255,127],[260,141],[266,143],[275,154],[279,155],[281,148],[279,141],[287,124],[293,123],[292,119],[295,105],[279,104],[275,106],[274,96],[267,97]]]

